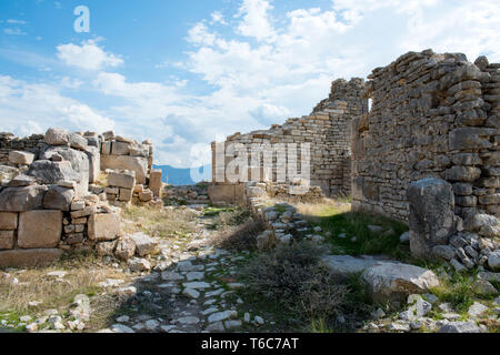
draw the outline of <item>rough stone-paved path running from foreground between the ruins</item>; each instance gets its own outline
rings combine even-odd
[[[244,285],[234,275],[247,253],[211,246],[211,220],[200,217],[199,233],[189,242],[159,240],[163,261],[136,280],[137,294],[119,310],[116,324],[101,332],[230,332],[266,323],[238,313],[242,300],[236,291]]]

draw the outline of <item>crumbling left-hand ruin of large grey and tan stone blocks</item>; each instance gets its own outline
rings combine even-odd
[[[19,139],[0,134],[0,266],[51,262],[96,248],[129,258],[121,209],[162,206],[152,145],[112,132],[49,129]]]

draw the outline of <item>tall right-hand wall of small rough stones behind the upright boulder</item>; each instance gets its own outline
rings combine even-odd
[[[374,69],[368,114],[352,122],[352,207],[408,221],[407,189],[434,176],[456,213],[499,216],[500,64],[483,57],[409,52]]]

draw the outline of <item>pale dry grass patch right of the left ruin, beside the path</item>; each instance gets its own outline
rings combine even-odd
[[[190,210],[153,209],[148,206],[131,206],[124,212],[128,223],[126,232],[144,232],[152,236],[172,237],[186,235],[196,231],[196,214]]]

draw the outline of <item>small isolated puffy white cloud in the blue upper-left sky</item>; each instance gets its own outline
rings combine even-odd
[[[57,47],[58,58],[67,65],[84,70],[100,70],[106,67],[118,67],[123,60],[118,55],[106,52],[96,40],[83,41],[81,45],[68,43]]]

